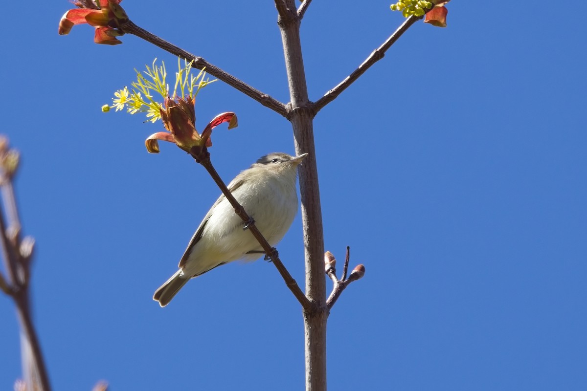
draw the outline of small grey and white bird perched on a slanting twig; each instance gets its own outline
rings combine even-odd
[[[271,246],[288,232],[298,212],[296,168],[307,155],[291,157],[282,152],[265,155],[228,184],[234,198],[255,220]],[[153,300],[165,307],[190,278],[228,262],[259,258],[261,245],[252,233],[243,229],[244,225],[230,202],[221,195],[191,238],[181,257],[180,270],[155,291]]]

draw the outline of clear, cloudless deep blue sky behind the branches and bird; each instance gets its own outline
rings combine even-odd
[[[272,2],[122,5],[289,100]],[[312,100],[403,21],[389,5],[312,3]],[[330,314],[330,389],[587,389],[587,5],[573,6],[454,0],[448,28],[414,25],[316,117],[326,249],[343,259],[350,246],[351,267],[366,265]],[[218,268],[164,309],[151,300],[220,192],[173,145],[147,154],[160,124],[100,112],[133,67],[176,59],[134,36],[95,45],[89,26],[58,36],[69,8],[6,2],[0,27],[0,132],[22,151],[16,188],[38,244],[32,297],[54,389],[303,389],[301,310],[271,264]],[[293,152],[284,118],[221,82],[196,111],[200,128],[238,114],[237,129],[213,135],[227,182]],[[278,249],[303,286],[299,216]],[[6,297],[0,314],[10,390],[21,368]]]

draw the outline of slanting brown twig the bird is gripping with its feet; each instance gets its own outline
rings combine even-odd
[[[312,308],[312,303],[308,300],[305,294],[303,294],[302,290],[299,288],[298,283],[294,280],[294,278],[289,274],[289,271],[285,268],[284,264],[279,259],[277,250],[271,247],[271,244],[267,242],[265,237],[261,234],[261,232],[257,229],[257,226],[254,223],[254,220],[247,214],[244,208],[238,203],[238,201],[234,198],[230,190],[228,190],[227,186],[222,182],[220,175],[216,172],[216,169],[212,165],[210,161],[210,153],[207,149],[204,148],[192,148],[191,151],[192,157],[195,159],[196,162],[200,163],[204,166],[204,168],[208,171],[214,182],[218,185],[222,194],[226,197],[232,208],[234,208],[234,212],[237,213],[238,217],[247,223],[247,229],[253,234],[257,242],[261,244],[261,247],[265,251],[265,254],[271,259],[272,263],[275,265],[281,277],[284,278],[285,284],[288,286],[289,290],[292,291],[294,296],[298,299],[300,304],[302,305],[304,310],[310,310]]]

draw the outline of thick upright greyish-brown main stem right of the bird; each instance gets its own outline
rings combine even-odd
[[[299,19],[295,2],[285,1],[288,15],[280,12],[279,28],[284,46],[288,74],[288,119],[294,130],[296,154],[308,152],[299,167],[302,198],[303,242],[306,259],[306,296],[313,303],[303,314],[305,326],[306,391],[326,391],[326,278],[324,273],[324,237],[322,210],[316,169],[316,151],[313,135],[313,111],[308,99],[308,88],[303,68],[302,46],[299,37]],[[289,16],[289,17],[287,17]]]

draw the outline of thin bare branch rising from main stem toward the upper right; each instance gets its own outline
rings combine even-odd
[[[345,80],[341,81],[338,84],[338,86],[328,91],[322,98],[320,98],[313,104],[312,107],[314,113],[318,113],[318,111],[322,110],[322,108],[324,108],[327,104],[335,100],[336,97],[338,97],[340,93],[342,93],[342,91],[346,90],[350,86],[350,84],[353,84],[355,80],[359,79],[359,77],[363,73],[365,73],[367,69],[369,69],[373,64],[382,59],[385,56],[385,52],[387,51],[387,49],[389,49],[396,42],[396,40],[399,39],[400,36],[402,36],[402,34],[410,28],[411,25],[419,21],[421,18],[422,16],[410,16],[409,18],[407,18],[402,23],[402,25],[399,26],[399,28],[395,30],[395,32],[389,38],[387,38],[383,45],[377,47],[377,49],[375,49],[373,53],[371,53],[371,55],[367,57],[367,59],[363,61],[363,63],[360,64],[357,69],[355,69],[351,74],[349,74],[349,76],[347,76]]]

